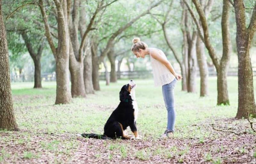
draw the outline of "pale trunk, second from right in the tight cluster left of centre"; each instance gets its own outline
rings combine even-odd
[[[84,57],[84,87],[87,94],[94,93],[92,83],[92,51],[86,51]]]

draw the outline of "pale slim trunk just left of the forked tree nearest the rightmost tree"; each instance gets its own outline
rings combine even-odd
[[[200,97],[208,95],[208,67],[204,52],[204,43],[199,34],[196,41],[196,57],[200,71]]]

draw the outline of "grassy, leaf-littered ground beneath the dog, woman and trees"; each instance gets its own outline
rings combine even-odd
[[[167,123],[161,87],[153,80],[135,80],[139,106],[138,132],[142,140],[100,140],[78,136],[103,133],[104,123],[119,103],[119,91],[128,80],[75,98],[55,102],[55,82],[12,83],[15,116],[20,131],[0,131],[0,163],[256,163],[256,137],[248,120],[236,120],[237,78],[228,78],[230,106],[216,106],[216,78],[209,79],[208,97],[175,88],[174,137],[159,138]],[[254,80],[255,81],[255,80]],[[256,84],[254,83],[254,86]],[[256,119],[253,125],[256,128]],[[216,131],[228,130],[239,133]],[[130,129],[128,133],[132,134]]]

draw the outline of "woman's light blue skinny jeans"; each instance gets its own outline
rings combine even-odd
[[[162,86],[164,103],[168,113],[167,129],[170,131],[174,131],[174,123],[176,118],[176,113],[174,109],[174,87],[176,83],[177,79],[175,78],[171,83]]]

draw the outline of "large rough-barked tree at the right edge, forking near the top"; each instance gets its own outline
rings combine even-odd
[[[238,54],[238,109],[236,118],[247,118],[247,112],[253,117],[256,117],[253,71],[249,54],[253,35],[256,30],[256,2],[248,27],[246,27],[243,0],[234,0],[233,6],[236,15],[236,48]]]

